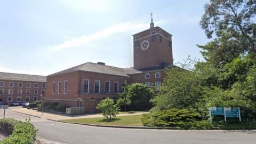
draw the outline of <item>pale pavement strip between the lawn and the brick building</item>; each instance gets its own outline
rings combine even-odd
[[[31,115],[31,116],[36,116],[36,117],[41,117],[45,119],[52,119],[54,121],[59,121],[63,119],[77,119],[77,118],[95,118],[95,117],[102,117],[102,115],[99,114],[84,114],[84,115],[74,115],[74,116],[69,116],[66,114],[53,114],[53,113],[47,113],[42,111],[37,111],[33,109],[27,109],[27,108],[22,108],[22,107],[10,107],[12,111],[26,114],[26,115]],[[120,114],[116,116],[130,116],[130,115],[141,115],[141,114],[146,114],[148,112],[143,112],[143,113],[134,113],[134,114]]]

